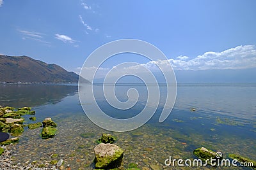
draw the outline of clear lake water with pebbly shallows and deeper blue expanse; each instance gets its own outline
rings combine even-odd
[[[118,85],[116,96],[121,101],[127,100],[127,89],[131,87],[140,92],[138,104],[121,113],[106,103],[100,90],[102,85],[95,85],[100,108],[117,118],[139,113],[147,99],[143,85]],[[116,144],[125,151],[124,167],[130,162],[137,162],[140,167],[150,164],[164,167],[163,162],[169,156],[193,159],[193,150],[200,146],[224,155],[239,153],[256,160],[256,84],[179,84],[173,111],[161,124],[158,119],[166,98],[164,85],[160,85],[160,92],[159,107],[146,125],[131,132],[113,133],[118,137]],[[76,85],[6,85],[0,86],[0,94],[0,105],[32,106],[36,122],[52,117],[58,124],[58,135],[47,140],[40,138],[40,129],[26,129],[14,149],[17,162],[37,160],[39,164],[64,159],[74,169],[90,169],[95,140],[107,131],[92,124],[83,113]],[[196,111],[190,111],[190,107]],[[32,123],[28,117],[26,121]],[[84,138],[81,134],[90,135]],[[51,158],[54,153],[58,154],[57,158]]]

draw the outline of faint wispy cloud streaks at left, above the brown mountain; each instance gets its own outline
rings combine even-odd
[[[48,41],[44,41],[45,34],[42,34],[40,32],[31,32],[31,31],[19,30],[19,29],[18,31],[22,33],[22,39],[32,39],[40,43],[51,44]]]

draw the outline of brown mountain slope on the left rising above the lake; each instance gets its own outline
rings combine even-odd
[[[0,55],[0,82],[78,83],[79,75],[27,56]],[[84,83],[90,81],[84,79]]]

